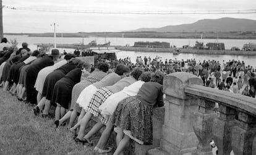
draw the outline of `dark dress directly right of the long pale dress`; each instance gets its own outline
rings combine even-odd
[[[58,82],[58,80],[60,80],[62,77],[64,77],[68,72],[70,72],[70,70],[75,69],[75,67],[77,67],[77,64],[64,64],[59,67],[59,69],[56,69],[53,72],[49,73],[49,75],[47,75],[47,77],[45,78],[42,96],[45,96],[46,99],[51,101],[55,83]],[[53,105],[54,104],[55,103],[53,103]]]

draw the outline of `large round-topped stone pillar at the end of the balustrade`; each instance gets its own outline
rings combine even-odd
[[[198,111],[198,101],[184,93],[184,88],[192,84],[203,85],[203,82],[186,72],[171,73],[164,77],[163,92],[167,101],[163,137],[158,152],[154,150],[151,154],[186,154],[196,149],[198,139],[193,130],[193,116]]]

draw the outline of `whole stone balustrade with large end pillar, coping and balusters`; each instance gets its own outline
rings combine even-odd
[[[256,154],[255,98],[205,87],[200,78],[185,72],[167,75],[163,85],[160,146],[148,154],[212,154],[211,139],[218,154]]]

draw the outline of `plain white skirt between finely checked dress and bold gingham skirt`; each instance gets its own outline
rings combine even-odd
[[[93,94],[96,93],[97,90],[98,89],[94,85],[89,85],[84,88],[80,93],[79,98],[77,98],[77,103],[79,106],[85,109],[89,105]]]

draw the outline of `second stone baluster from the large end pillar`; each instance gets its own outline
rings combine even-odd
[[[219,103],[220,117],[213,121],[213,140],[218,147],[219,154],[230,154],[232,128],[236,126],[236,110]]]

